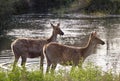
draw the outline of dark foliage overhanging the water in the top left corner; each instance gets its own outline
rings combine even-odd
[[[13,14],[21,14],[27,11],[26,0],[0,0],[0,31],[2,32],[9,28]]]

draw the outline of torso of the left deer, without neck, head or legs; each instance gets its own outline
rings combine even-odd
[[[12,43],[12,49],[14,50],[16,57],[25,56],[27,58],[35,58],[41,56],[42,47],[47,43],[46,40],[21,38]]]

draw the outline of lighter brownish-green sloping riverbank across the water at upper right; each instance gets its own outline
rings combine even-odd
[[[119,15],[119,0],[75,0],[68,6],[55,9],[56,13],[80,13],[88,15]]]

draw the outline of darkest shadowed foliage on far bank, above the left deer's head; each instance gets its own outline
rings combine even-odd
[[[74,0],[31,0],[33,12],[51,12],[53,9],[67,7]]]

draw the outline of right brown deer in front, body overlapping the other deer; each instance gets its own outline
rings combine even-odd
[[[54,70],[57,63],[77,66],[81,58],[84,61],[95,50],[97,44],[105,44],[96,34],[96,32],[90,34],[89,40],[84,47],[67,46],[55,42],[46,44],[43,52],[47,60],[47,72],[50,69],[50,65],[52,65]]]

